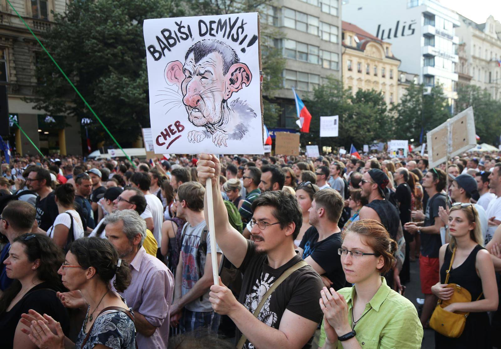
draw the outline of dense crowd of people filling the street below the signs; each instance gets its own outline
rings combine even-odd
[[[436,347],[501,347],[500,156],[17,154],[0,177],[0,346],[419,348],[431,327]],[[459,335],[436,307],[466,315]]]

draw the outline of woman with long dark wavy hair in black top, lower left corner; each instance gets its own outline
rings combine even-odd
[[[4,261],[14,282],[0,298],[0,347],[37,347],[21,331],[26,328],[21,314],[29,309],[51,315],[68,331],[68,313],[56,296],[56,291],[64,291],[57,273],[63,262],[63,251],[46,235],[24,234],[13,241]]]

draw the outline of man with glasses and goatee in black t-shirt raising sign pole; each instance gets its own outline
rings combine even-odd
[[[246,240],[228,222],[219,190],[221,164],[217,157],[201,154],[197,169],[202,184],[211,179],[208,185],[212,186],[218,245],[243,272],[239,300],[222,283],[211,286],[213,309],[235,323],[235,338],[243,342],[238,347],[311,347],[308,342],[322,319],[316,295],[323,284],[310,265],[298,264],[302,259],[294,251],[294,239],[303,216],[297,200],[281,191],[262,194],[253,202],[251,240]],[[207,196],[204,201],[207,209]],[[281,276],[287,274],[281,282]],[[263,297],[274,284],[275,292]],[[255,317],[253,312],[259,305],[262,307]]]

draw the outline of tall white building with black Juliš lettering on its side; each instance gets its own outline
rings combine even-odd
[[[440,83],[453,106],[457,99],[457,13],[435,0],[349,0],[343,21],[391,43],[400,70],[417,73],[428,88]]]

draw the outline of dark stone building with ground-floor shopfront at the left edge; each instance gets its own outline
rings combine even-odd
[[[67,5],[65,0],[11,0],[11,4],[39,38],[54,25],[53,12],[64,13]],[[45,54],[11,6],[0,0],[0,85],[7,88],[11,147],[22,154],[37,153],[17,123],[44,154],[81,154],[77,118],[48,115],[25,100],[36,97],[37,56]]]

